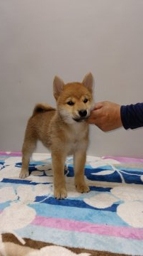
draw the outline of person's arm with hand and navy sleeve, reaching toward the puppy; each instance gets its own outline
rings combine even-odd
[[[120,106],[108,101],[98,102],[91,111],[88,123],[96,124],[104,132],[122,126],[125,129],[143,127],[143,103]]]

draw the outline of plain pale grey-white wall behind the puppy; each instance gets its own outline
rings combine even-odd
[[[0,35],[1,150],[21,150],[36,102],[55,105],[54,75],[91,71],[96,102],[143,101],[142,0],[0,0]],[[142,132],[91,127],[88,154],[142,157]]]

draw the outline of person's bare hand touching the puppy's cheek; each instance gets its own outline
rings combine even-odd
[[[88,118],[89,124],[96,124],[103,132],[122,127],[120,105],[113,102],[98,102]]]

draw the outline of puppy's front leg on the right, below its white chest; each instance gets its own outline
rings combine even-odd
[[[86,193],[89,187],[84,181],[84,166],[86,164],[86,151],[76,151],[74,154],[75,186],[79,193]]]

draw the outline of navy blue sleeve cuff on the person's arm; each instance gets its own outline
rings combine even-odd
[[[120,116],[125,129],[143,127],[143,103],[121,106]]]

